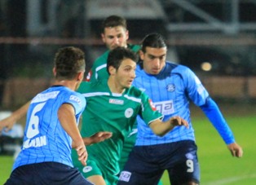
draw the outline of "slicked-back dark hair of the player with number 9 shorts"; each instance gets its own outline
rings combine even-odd
[[[166,47],[164,37],[160,33],[150,33],[143,38],[141,51],[145,52],[146,47],[161,48]]]

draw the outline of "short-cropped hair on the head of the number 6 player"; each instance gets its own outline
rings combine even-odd
[[[55,54],[54,66],[56,79],[72,80],[77,73],[86,69],[85,53],[73,46],[60,48]]]

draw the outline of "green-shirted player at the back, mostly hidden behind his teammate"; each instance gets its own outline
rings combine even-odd
[[[90,72],[86,77],[86,81],[96,81],[101,79],[108,79],[107,58],[109,51],[112,51],[117,46],[129,48],[135,53],[139,52],[140,46],[128,43],[129,31],[127,29],[126,19],[119,15],[110,15],[102,23],[101,31],[102,41],[108,48],[103,55],[99,56],[90,68]],[[135,145],[137,135],[137,125],[130,131],[130,134],[125,139],[123,151],[120,157],[120,169],[126,164],[129,153]]]

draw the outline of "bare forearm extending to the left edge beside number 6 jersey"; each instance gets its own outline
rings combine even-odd
[[[17,109],[15,112],[12,112],[11,116],[0,121],[0,131],[4,128],[6,128],[7,131],[11,130],[11,128],[15,124],[15,122],[20,120],[21,117],[24,117],[26,115],[26,113],[28,112],[28,109],[29,109],[30,102],[31,101],[24,104],[22,107]]]

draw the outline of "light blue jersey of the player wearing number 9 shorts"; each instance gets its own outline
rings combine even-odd
[[[189,101],[197,106],[205,104],[209,94],[195,73],[183,65],[166,62],[166,66],[158,75],[149,75],[138,64],[133,85],[143,90],[155,107],[161,112],[164,121],[173,116],[183,117],[189,123],[189,128],[177,126],[163,137],[159,137],[148,129],[139,117],[138,135],[135,145],[152,145],[170,143],[180,140],[194,140],[194,130],[190,118]]]

